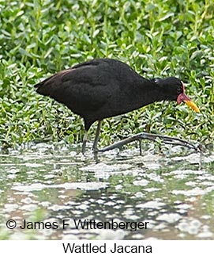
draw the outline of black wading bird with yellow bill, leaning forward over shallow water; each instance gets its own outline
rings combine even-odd
[[[155,101],[182,101],[199,112],[185,94],[181,80],[175,77],[146,79],[126,63],[116,59],[92,59],[60,71],[36,84],[39,94],[54,98],[84,119],[82,152],[85,151],[88,129],[98,120],[93,151],[101,121],[115,117]]]

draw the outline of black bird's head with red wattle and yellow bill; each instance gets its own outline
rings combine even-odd
[[[182,102],[185,102],[187,105],[190,106],[194,111],[197,113],[200,113],[200,110],[197,108],[197,105],[190,100],[190,97],[188,97],[185,93],[185,86],[183,82],[175,77],[169,77],[169,78],[154,78],[154,82],[159,84],[163,90],[169,95],[169,100],[175,100],[178,104],[181,104]]]

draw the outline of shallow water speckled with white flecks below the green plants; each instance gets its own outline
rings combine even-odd
[[[89,150],[77,151],[39,143],[2,152],[0,239],[214,239],[213,152],[115,150],[97,163]],[[17,227],[9,230],[7,220]],[[58,227],[21,229],[24,220]],[[78,229],[74,220],[148,227]]]

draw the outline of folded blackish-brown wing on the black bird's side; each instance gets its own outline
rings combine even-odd
[[[114,81],[114,82],[113,82]],[[36,85],[39,94],[54,98],[84,117],[84,113],[96,111],[114,94],[109,84],[117,81],[108,63],[94,59],[78,64],[47,78]]]

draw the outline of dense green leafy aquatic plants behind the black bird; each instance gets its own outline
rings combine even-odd
[[[213,143],[213,14],[209,0],[0,1],[0,145],[80,142],[81,118],[33,85],[98,57],[120,59],[147,78],[181,78],[201,109],[163,102],[107,119],[101,144],[145,131]]]

